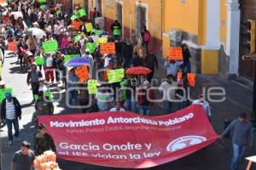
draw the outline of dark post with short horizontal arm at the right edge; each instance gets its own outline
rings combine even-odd
[[[251,116],[251,121],[253,123],[253,128],[256,128],[256,54],[245,54],[241,56],[241,60],[247,61],[251,60],[254,62],[253,66],[253,112]]]

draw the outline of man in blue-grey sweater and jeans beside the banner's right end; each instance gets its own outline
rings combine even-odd
[[[253,147],[253,125],[247,120],[246,113],[241,113],[240,116],[230,123],[230,125],[219,136],[224,139],[224,136],[232,133],[233,158],[231,170],[238,170],[241,161],[244,158],[247,145]]]

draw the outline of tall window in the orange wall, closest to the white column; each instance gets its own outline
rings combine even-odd
[[[143,26],[147,26],[147,8],[141,5],[136,6],[136,31],[139,34],[143,30]]]

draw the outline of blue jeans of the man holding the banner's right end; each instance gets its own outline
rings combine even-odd
[[[238,170],[241,159],[245,154],[247,146],[240,146],[233,143],[233,158],[231,163],[231,170]]]

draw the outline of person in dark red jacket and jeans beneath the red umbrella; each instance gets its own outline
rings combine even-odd
[[[151,89],[148,81],[144,81],[137,91],[137,105],[141,115],[149,116],[150,108],[154,105],[153,99],[155,99],[154,90]]]

